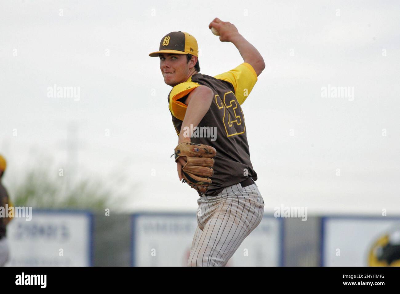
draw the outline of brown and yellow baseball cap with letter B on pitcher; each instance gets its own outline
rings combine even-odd
[[[186,32],[170,32],[160,42],[160,50],[149,54],[151,57],[158,57],[160,53],[192,54],[198,56],[197,41],[194,36]]]

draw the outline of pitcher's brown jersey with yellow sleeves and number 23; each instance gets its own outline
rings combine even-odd
[[[249,176],[257,180],[250,161],[246,124],[241,108],[256,82],[254,68],[243,62],[214,77],[194,74],[186,82],[174,86],[168,94],[172,122],[179,135],[188,107],[183,102],[189,93],[200,85],[214,92],[211,106],[198,124],[197,133],[194,132],[191,138],[193,143],[210,145],[217,150],[212,184],[206,195],[217,195],[224,187],[238,184]]]

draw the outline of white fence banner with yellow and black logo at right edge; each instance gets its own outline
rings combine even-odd
[[[321,266],[400,266],[400,218],[326,216]]]

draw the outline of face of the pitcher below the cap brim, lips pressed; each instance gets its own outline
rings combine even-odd
[[[189,78],[189,63],[186,54],[160,54],[160,69],[164,82],[172,87]]]

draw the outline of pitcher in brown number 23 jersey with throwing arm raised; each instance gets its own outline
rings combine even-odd
[[[197,41],[181,31],[165,35],[159,50],[149,54],[160,58],[164,82],[172,87],[168,105],[178,134],[174,154],[179,179],[200,196],[188,266],[225,266],[264,214],[241,108],[265,68],[264,60],[230,22],[215,18],[208,27],[219,32],[221,42],[238,48],[242,64],[216,76],[200,74]],[[216,134],[195,136],[195,128],[213,129]],[[210,161],[196,165],[190,154],[199,150]],[[192,174],[185,172],[189,165]],[[193,176],[196,170],[198,178]]]

